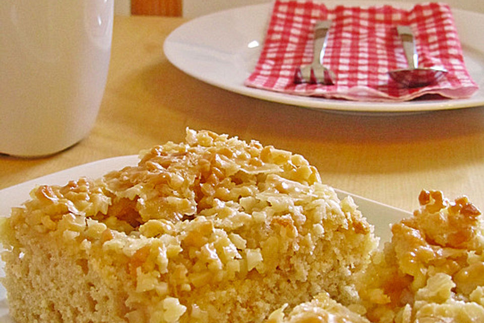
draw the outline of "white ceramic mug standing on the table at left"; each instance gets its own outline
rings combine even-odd
[[[112,20],[113,0],[0,2],[0,153],[48,155],[90,132]]]

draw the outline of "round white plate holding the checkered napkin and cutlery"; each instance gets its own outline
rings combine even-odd
[[[340,0],[325,1],[328,7]],[[348,6],[383,4],[377,1],[346,1]],[[401,8],[413,4],[385,2]],[[259,99],[347,112],[422,112],[484,105],[484,15],[453,9],[464,61],[479,90],[466,99],[413,100],[406,102],[359,102],[306,97],[250,88],[244,81],[253,72],[264,41],[271,4],[240,7],[191,20],[166,38],[166,58],[185,73],[211,85]]]

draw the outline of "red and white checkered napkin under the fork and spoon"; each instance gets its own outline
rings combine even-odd
[[[333,21],[324,66],[335,72],[335,85],[294,84],[295,69],[313,60],[317,20]],[[438,83],[403,88],[388,71],[407,67],[397,24],[414,33],[419,66],[444,66]],[[448,5],[426,3],[411,10],[379,7],[327,8],[312,1],[276,0],[259,61],[245,85],[272,91],[365,101],[404,101],[424,94],[469,97],[477,84],[467,72]]]

